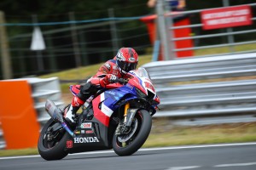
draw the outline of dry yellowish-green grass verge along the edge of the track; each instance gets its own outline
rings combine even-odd
[[[220,144],[256,141],[256,122],[177,127],[154,119],[144,148],[187,144]],[[38,149],[0,150],[0,156],[38,155]]]

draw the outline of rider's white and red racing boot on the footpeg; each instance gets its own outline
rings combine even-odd
[[[67,122],[71,124],[75,123],[74,119],[81,105],[84,105],[84,101],[79,99],[78,96],[74,96],[71,105],[64,111],[64,117]]]

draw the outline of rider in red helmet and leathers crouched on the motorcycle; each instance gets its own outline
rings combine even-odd
[[[86,99],[101,88],[108,88],[106,85],[116,82],[118,78],[128,78],[129,71],[137,68],[138,55],[133,48],[120,48],[113,59],[108,60],[97,71],[96,75],[91,77],[84,86],[79,89],[79,94],[73,97],[70,107],[64,111],[64,117],[68,122],[74,122],[76,112],[81,105],[84,105]]]

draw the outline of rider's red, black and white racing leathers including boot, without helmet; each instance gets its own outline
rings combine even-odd
[[[108,60],[105,64],[103,64],[96,75],[90,77],[90,79],[85,83],[85,85],[80,88],[79,94],[73,97],[72,104],[70,108],[67,108],[65,111],[65,117],[73,121],[74,114],[79,110],[81,105],[84,105],[86,99],[88,99],[91,95],[96,94],[96,91],[100,88],[108,88],[108,85],[111,81],[111,77],[118,78],[128,78],[126,75],[121,73],[119,66],[117,65],[116,57]]]

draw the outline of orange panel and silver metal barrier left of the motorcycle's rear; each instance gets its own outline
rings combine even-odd
[[[24,91],[24,89],[20,88],[20,86],[18,85],[18,83],[20,83],[20,82],[22,82],[23,84],[25,84],[26,87],[28,87],[25,90],[25,91],[27,91],[26,94],[22,94],[20,92],[20,91]],[[16,105],[13,105],[13,108],[9,108],[8,114],[10,116],[6,118],[6,121],[4,124],[5,129],[8,129],[8,126],[15,126],[14,124],[19,124],[18,127],[23,126],[26,128],[33,128],[33,125],[35,125],[35,123],[36,123],[38,125],[35,125],[36,126],[35,128],[38,129],[38,131],[39,131],[40,128],[43,127],[44,123],[47,120],[49,120],[49,115],[44,110],[45,100],[51,99],[55,102],[55,105],[59,105],[59,106],[64,104],[61,101],[61,89],[60,89],[60,83],[59,83],[59,80],[57,77],[45,78],[45,79],[29,77],[29,78],[15,79],[15,80],[6,80],[6,81],[1,82],[1,86],[4,86],[4,84],[6,84],[6,86],[13,84],[13,86],[19,87],[19,88],[15,88],[15,89],[18,89],[17,90],[18,93],[20,92],[19,94],[16,94],[16,97],[18,96],[17,98],[20,99],[20,101],[18,100],[19,103]],[[26,85],[26,84],[28,84],[28,85]],[[26,99],[28,99],[28,100],[31,99],[32,100],[32,102],[30,102],[31,104],[30,103],[28,104],[25,101]],[[30,107],[30,105],[32,105],[32,107]],[[23,106],[24,106],[24,109],[21,108]],[[15,107],[18,107],[17,108],[18,111],[14,110]],[[27,109],[27,108],[29,108],[29,109]],[[6,110],[8,110],[8,108],[6,108]],[[19,113],[19,111],[21,113]],[[5,115],[5,117],[6,117],[6,115]],[[2,116],[3,116],[3,113],[2,113]],[[34,118],[35,120],[30,120],[29,122],[26,122],[26,126],[22,125],[22,122],[15,123],[15,122],[19,121],[21,118],[23,120],[31,118],[30,116],[35,116],[35,118]],[[33,122],[33,121],[35,121],[35,122]],[[2,120],[2,123],[3,123],[3,120]],[[15,134],[23,135],[26,133],[32,133],[32,130],[30,130],[29,132],[24,132],[24,131],[20,132],[20,129],[19,129],[19,131],[15,130],[16,133],[13,131],[11,133],[9,133],[9,132],[4,131],[3,124],[0,124],[0,125],[1,125],[0,128],[3,129],[3,130],[0,129],[0,149],[22,148],[23,146],[35,144],[38,140],[38,139],[34,139],[29,144],[26,142],[26,144],[23,144],[23,145],[19,145],[17,143],[16,144],[6,144],[6,142],[8,141],[7,138],[9,138],[9,141],[12,141],[12,139],[16,138],[16,137],[13,137],[13,136],[15,136]],[[31,127],[29,127],[30,125],[31,125]],[[39,133],[38,131],[35,132],[34,136],[38,136],[38,133]],[[20,133],[17,133],[17,132],[20,132]],[[7,137],[7,135],[4,136],[4,133],[5,134],[8,133],[9,134],[8,137]],[[3,138],[3,136],[4,136],[4,138]],[[26,136],[25,137],[22,136],[22,137],[23,137],[22,139],[26,139]]]

